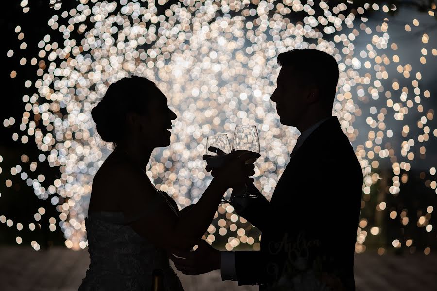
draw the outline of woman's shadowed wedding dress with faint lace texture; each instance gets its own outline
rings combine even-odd
[[[165,192],[160,194],[157,203],[167,202],[179,215],[176,203],[169,201]],[[139,217],[128,220],[122,212],[88,214],[85,226],[90,266],[79,290],[151,290],[154,269],[163,270],[166,291],[183,290],[167,252],[129,225],[136,219]]]

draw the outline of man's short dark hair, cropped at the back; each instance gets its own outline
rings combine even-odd
[[[299,73],[303,84],[319,90],[325,105],[332,109],[339,78],[336,59],[318,49],[293,49],[278,55],[278,65],[291,67]]]

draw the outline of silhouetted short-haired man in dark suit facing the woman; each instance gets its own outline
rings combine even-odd
[[[203,241],[196,251],[177,253],[185,259],[172,260],[185,274],[221,269],[223,280],[257,284],[260,290],[355,290],[363,175],[337,117],[331,116],[337,62],[316,49],[295,49],[279,54],[278,64],[271,100],[280,122],[302,134],[271,201],[250,185],[257,198],[231,202],[262,232],[260,251],[220,252]]]

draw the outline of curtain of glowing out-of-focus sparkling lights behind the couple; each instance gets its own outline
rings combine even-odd
[[[363,169],[362,209],[371,207],[368,202],[374,185],[382,180],[388,193],[398,196],[414,162],[426,158],[427,142],[437,136],[437,129],[428,125],[434,110],[423,102],[431,92],[421,86],[424,68],[437,51],[430,46],[431,34],[411,19],[404,33],[407,37],[420,34],[411,52],[415,56],[398,52],[401,38],[390,35],[395,5],[357,6],[352,1],[331,5],[311,0],[76,2],[76,8],[63,10],[61,1],[50,1],[53,16],[47,22],[48,34],[32,44],[39,49],[34,57],[20,57],[13,49],[7,52],[19,64],[30,62],[38,69],[23,84],[34,93],[22,96],[21,120],[11,117],[3,125],[20,123],[12,140],[35,142],[41,154],[38,161],[23,154],[15,167],[0,167],[0,173],[20,175],[35,195],[50,199],[59,212],[59,217],[47,217],[45,209],[39,208],[34,222],[21,223],[0,216],[1,223],[15,225],[18,231],[23,227],[34,230],[44,219],[50,231],[57,227],[63,231],[68,248],[86,247],[84,218],[92,179],[111,152],[95,131],[91,109],[109,84],[130,74],[156,82],[178,116],[171,145],[153,152],[146,171],[156,188],[173,196],[181,208],[196,203],[211,180],[202,160],[206,137],[218,133],[231,137],[238,124],[256,125],[259,130],[261,157],[255,163],[255,181],[262,194],[271,197],[299,135],[295,128],[280,125],[269,99],[280,69],[276,57],[290,49],[323,50],[339,63],[333,115]],[[29,9],[27,4],[27,0],[21,2],[23,13]],[[435,5],[428,11],[430,17],[434,11]],[[295,21],[290,17],[293,13],[304,16]],[[73,32],[80,38],[73,37]],[[15,33],[19,48],[28,49],[31,44],[25,42],[25,35],[31,31],[17,26]],[[52,41],[53,34],[62,35],[64,41]],[[16,67],[10,78],[19,74],[20,67]],[[395,136],[402,140],[396,143]],[[387,162],[391,173],[380,171]],[[40,163],[58,167],[59,178],[35,176]],[[323,171],[327,175],[329,166]],[[426,187],[437,194],[435,173],[432,165],[423,180],[428,177]],[[4,180],[7,187],[12,186],[10,179]],[[325,194],[333,194],[325,186]],[[375,211],[387,212],[403,225],[413,223],[427,232],[435,231],[429,223],[432,205],[416,218],[414,212],[397,212],[384,198],[380,200]],[[356,252],[365,251],[369,234],[380,236],[384,231],[362,215]],[[260,234],[232,206],[222,205],[205,239],[224,241],[227,250],[240,244],[256,250]],[[16,242],[23,240],[17,236]],[[397,238],[390,245],[399,248],[403,243]],[[40,249],[36,241],[31,245]],[[414,245],[414,238],[406,245]],[[380,255],[384,252],[383,247],[378,249]],[[427,248],[425,254],[429,252]]]

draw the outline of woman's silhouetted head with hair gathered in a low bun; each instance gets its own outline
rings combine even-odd
[[[91,115],[101,139],[118,146],[150,151],[170,144],[176,114],[152,81],[138,76],[109,86]]]

